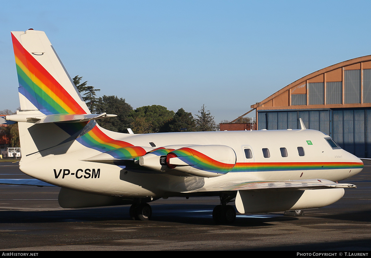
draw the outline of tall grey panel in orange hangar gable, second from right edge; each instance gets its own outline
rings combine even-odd
[[[344,71],[344,103],[361,103],[361,70]]]

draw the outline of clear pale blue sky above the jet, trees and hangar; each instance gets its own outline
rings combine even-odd
[[[205,104],[219,123],[371,54],[370,10],[371,1],[4,1],[0,110],[19,106],[10,31],[45,31],[70,76],[99,96],[193,115]]]

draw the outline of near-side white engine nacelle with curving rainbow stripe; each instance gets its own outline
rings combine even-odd
[[[224,175],[236,165],[236,153],[225,145],[191,145],[175,150],[166,147],[142,156],[139,165],[173,175],[203,177]]]

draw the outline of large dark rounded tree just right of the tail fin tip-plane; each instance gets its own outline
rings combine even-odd
[[[130,127],[134,119],[130,116],[132,107],[125,102],[125,99],[117,96],[106,96],[98,98],[99,105],[96,107],[97,113],[107,113],[117,115],[111,118],[99,119],[98,124],[107,130],[124,133]]]

